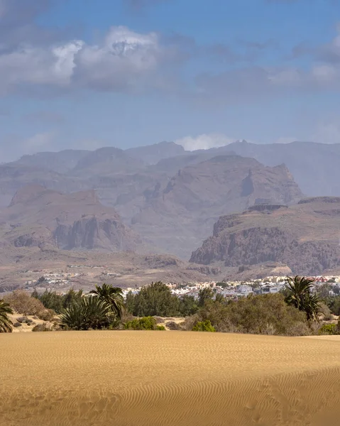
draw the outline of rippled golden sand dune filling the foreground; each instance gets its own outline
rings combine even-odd
[[[0,335],[1,426],[334,426],[340,339]]]

